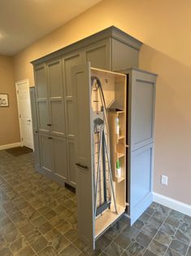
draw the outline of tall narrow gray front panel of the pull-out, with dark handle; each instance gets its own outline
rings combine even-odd
[[[75,161],[78,232],[94,249],[93,156],[91,127],[90,66],[72,68],[72,92],[75,113]]]

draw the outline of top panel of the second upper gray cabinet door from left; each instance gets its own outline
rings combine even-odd
[[[61,60],[47,64],[50,98],[63,97],[63,70]]]

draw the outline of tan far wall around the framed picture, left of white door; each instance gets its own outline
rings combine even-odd
[[[0,93],[9,95],[8,108],[0,108],[0,146],[20,142],[20,130],[13,77],[13,60],[0,55]]]

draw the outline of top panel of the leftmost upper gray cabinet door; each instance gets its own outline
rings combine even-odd
[[[37,86],[37,99],[47,98],[46,65],[43,64],[34,69],[35,83]]]

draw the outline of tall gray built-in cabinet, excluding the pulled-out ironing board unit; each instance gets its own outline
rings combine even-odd
[[[138,69],[140,48],[141,42],[112,26],[32,62],[36,91],[33,120],[37,117],[33,128],[36,168],[72,187],[76,187],[78,171],[74,157],[76,99],[72,90],[72,68],[89,61],[93,68],[127,74],[127,165],[124,170],[131,223],[152,201],[156,76]],[[79,222],[83,225],[82,219]]]

